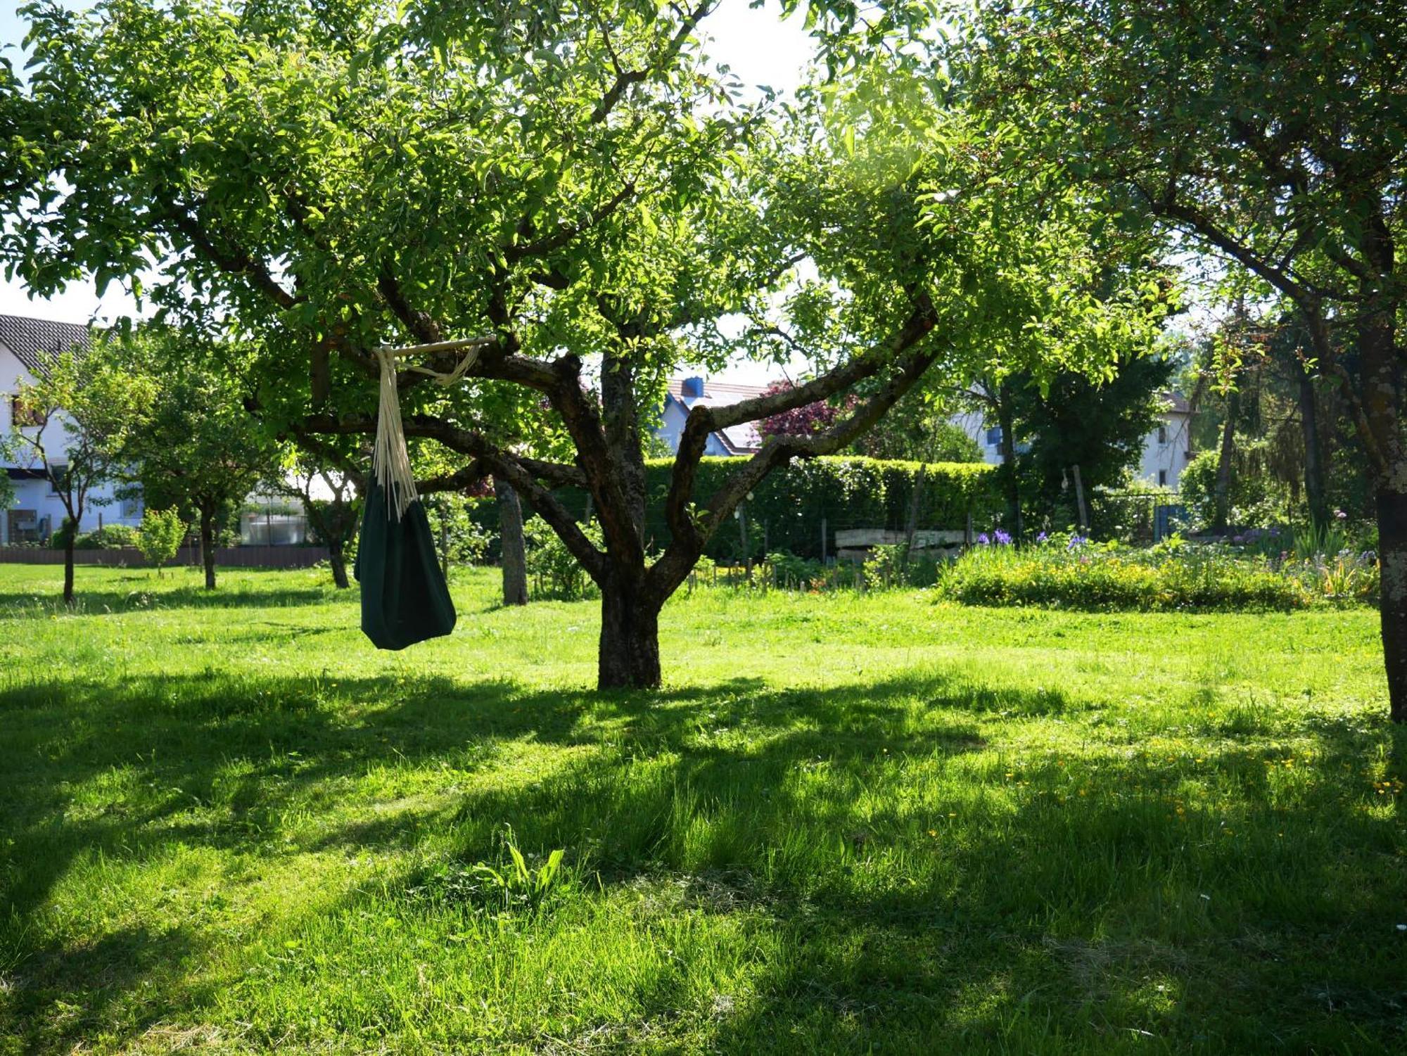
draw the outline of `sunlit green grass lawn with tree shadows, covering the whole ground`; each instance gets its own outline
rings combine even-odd
[[[1368,610],[701,591],[601,696],[485,570],[404,653],[326,573],[61,574],[0,566],[6,1056],[1407,1050]]]

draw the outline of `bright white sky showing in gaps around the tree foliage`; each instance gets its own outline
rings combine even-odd
[[[65,0],[73,8],[87,7],[87,0]],[[25,23],[17,14],[18,0],[0,0],[0,45],[15,65],[23,66],[20,42],[24,39]],[[727,63],[744,84],[768,84],[781,92],[791,92],[801,82],[802,70],[810,59],[810,38],[802,30],[801,14],[788,20],[779,17],[778,4],[753,8],[749,0],[723,0],[704,25],[712,37],[709,56],[719,63]],[[113,283],[103,297],[91,282],[77,282],[48,300],[34,300],[24,284],[15,279],[6,282],[0,275],[0,314],[37,315],[62,322],[111,322],[122,315],[135,315],[136,304]],[[772,366],[740,363],[730,367],[718,380],[761,384],[779,376]]]

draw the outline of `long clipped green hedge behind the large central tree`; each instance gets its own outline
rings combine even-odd
[[[699,463],[694,501],[704,505],[737,472],[743,459],[706,458]],[[670,529],[664,522],[664,497],[670,490],[673,459],[646,462],[644,534],[651,549],[664,549]],[[913,487],[923,469],[917,528],[960,531],[968,514],[978,531],[989,528],[1002,508],[995,466],[982,462],[889,462],[860,456],[832,456],[792,462],[774,470],[753,491],[746,504],[749,543],[754,558],[788,552],[798,558],[820,558],[822,522],[826,553],[836,552],[836,532],[846,528],[888,528],[903,531],[909,520]],[[557,498],[578,520],[587,514],[587,494],[578,489],[559,490]],[[498,515],[492,503],[476,511],[497,536]],[[494,548],[497,552],[497,546]],[[709,541],[715,560],[741,556],[741,532],[730,518]]]

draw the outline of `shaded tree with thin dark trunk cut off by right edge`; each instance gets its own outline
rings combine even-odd
[[[1040,0],[981,8],[972,34],[961,76],[981,106],[1038,107],[1052,165],[1126,187],[1300,315],[1373,476],[1407,721],[1407,20],[1349,0]]]

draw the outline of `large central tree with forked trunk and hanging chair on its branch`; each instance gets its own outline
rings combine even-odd
[[[30,7],[6,255],[39,289],[159,259],[153,296],[238,320],[260,413],[311,434],[374,431],[376,349],[412,346],[415,458],[438,445],[464,483],[511,486],[601,589],[598,683],[654,686],[660,608],[777,466],[854,442],[934,365],[1099,369],[1100,335],[1140,325],[1142,301],[1137,282],[1093,289],[1124,232],[1090,232],[1088,201],[1012,168],[1014,130],[948,114],[888,62],[902,49],[788,117],[704,65],[712,7]],[[815,377],[691,411],[651,560],[642,418],[680,363],[722,358],[737,313],[789,327]],[[830,428],[772,438],[695,496],[709,434],[857,386]],[[590,491],[602,546],[560,486]]]

